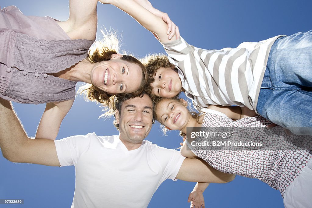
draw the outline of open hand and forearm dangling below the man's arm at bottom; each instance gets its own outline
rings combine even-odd
[[[193,191],[188,196],[188,202],[191,203],[191,208],[205,207],[205,200],[202,193],[206,190],[208,185],[209,183],[196,183]]]

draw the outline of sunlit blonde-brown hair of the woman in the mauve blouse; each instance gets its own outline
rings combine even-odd
[[[104,30],[101,30],[104,36],[103,39],[100,41],[96,41],[94,46],[91,46],[91,48],[89,49],[88,59],[92,63],[110,60],[113,54],[119,52],[119,36],[116,34],[116,31],[107,31],[106,29]],[[131,93],[133,96],[141,94],[144,91],[145,86],[148,85],[148,74],[145,66],[133,55],[123,55],[121,57],[121,60],[137,64],[142,69],[142,80],[139,89]],[[115,95],[110,95],[107,92],[91,84],[85,84],[80,86],[77,94],[78,93],[83,94],[85,99],[98,101],[104,106],[109,106],[113,102],[115,97]]]

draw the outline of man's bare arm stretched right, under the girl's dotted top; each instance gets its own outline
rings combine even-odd
[[[179,180],[204,183],[227,183],[234,178],[235,175],[220,172],[197,158],[185,158],[176,176]]]

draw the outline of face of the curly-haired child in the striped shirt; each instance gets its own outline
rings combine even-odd
[[[151,83],[152,94],[163,98],[173,98],[182,90],[182,83],[178,72],[173,69],[160,67],[154,76],[155,81]]]

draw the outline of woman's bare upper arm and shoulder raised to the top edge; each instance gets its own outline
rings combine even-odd
[[[94,40],[97,29],[97,0],[70,0],[69,18],[57,22],[71,39]]]

